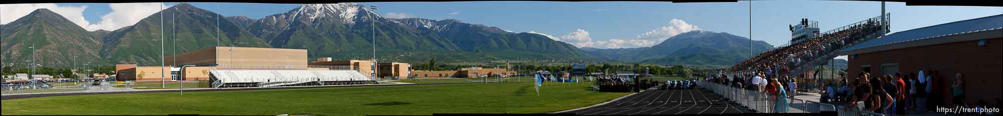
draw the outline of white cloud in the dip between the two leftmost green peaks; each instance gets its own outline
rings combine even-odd
[[[112,31],[125,26],[130,26],[146,18],[153,13],[159,12],[160,8],[169,8],[171,6],[163,5],[163,3],[114,3],[108,4],[111,7],[111,12],[101,16],[101,22],[98,24],[91,24],[84,27],[88,31],[103,29]]]

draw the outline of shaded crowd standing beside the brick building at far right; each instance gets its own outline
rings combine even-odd
[[[978,100],[979,102],[975,104],[965,100],[963,91],[965,83],[962,81],[964,75],[956,73],[953,76],[951,79],[954,83],[948,87],[939,86],[942,85],[940,82],[948,81],[946,80],[948,78],[942,77],[936,70],[921,69],[916,73],[899,72],[890,75],[871,75],[862,72],[858,74],[855,82],[845,79],[842,83],[826,84],[828,86],[821,92],[820,101],[885,115],[923,114],[935,111],[936,106],[993,106],[985,100]],[[945,94],[950,94],[951,98],[941,98]],[[941,99],[952,99],[953,104],[937,104]]]

